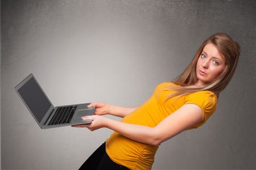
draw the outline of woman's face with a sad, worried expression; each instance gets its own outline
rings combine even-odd
[[[198,81],[195,85],[203,86],[213,82],[225,70],[225,67],[225,58],[218,52],[218,49],[213,44],[205,45],[197,59],[196,76]]]

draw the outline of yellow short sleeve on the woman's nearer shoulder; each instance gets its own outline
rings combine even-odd
[[[191,127],[198,128],[199,126],[203,125],[210,116],[214,113],[217,108],[217,96],[214,95],[213,92],[210,91],[199,91],[193,94],[189,94],[184,104],[196,104],[198,105],[203,111],[203,117],[199,124]]]

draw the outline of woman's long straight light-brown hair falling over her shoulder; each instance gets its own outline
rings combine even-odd
[[[203,52],[204,46],[207,44],[213,44],[218,49],[218,52],[225,58],[225,70],[218,76],[213,82],[205,84],[203,87],[188,87],[197,82],[196,76],[196,64],[197,59]],[[232,40],[225,33],[216,33],[205,40],[197,50],[196,56],[192,59],[192,62],[188,65],[185,71],[174,79],[175,84],[179,86],[171,86],[168,90],[177,91],[175,94],[167,97],[167,100],[173,96],[190,94],[197,91],[212,91],[216,96],[224,90],[224,88],[230,82],[234,71],[236,70],[238,58],[240,56],[240,45]]]

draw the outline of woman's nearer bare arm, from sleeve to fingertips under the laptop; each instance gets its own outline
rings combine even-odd
[[[86,127],[92,131],[105,127],[112,129],[127,138],[133,139],[134,141],[150,145],[159,145],[167,139],[181,133],[181,131],[187,130],[191,126],[199,123],[202,116],[203,114],[199,106],[195,104],[185,104],[176,112],[164,118],[164,120],[154,128],[127,124],[101,116],[82,117],[83,119],[92,118],[93,121],[89,125],[78,125],[76,127]]]

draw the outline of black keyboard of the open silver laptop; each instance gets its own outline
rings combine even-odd
[[[48,125],[69,124],[76,110],[75,106],[59,107]]]

